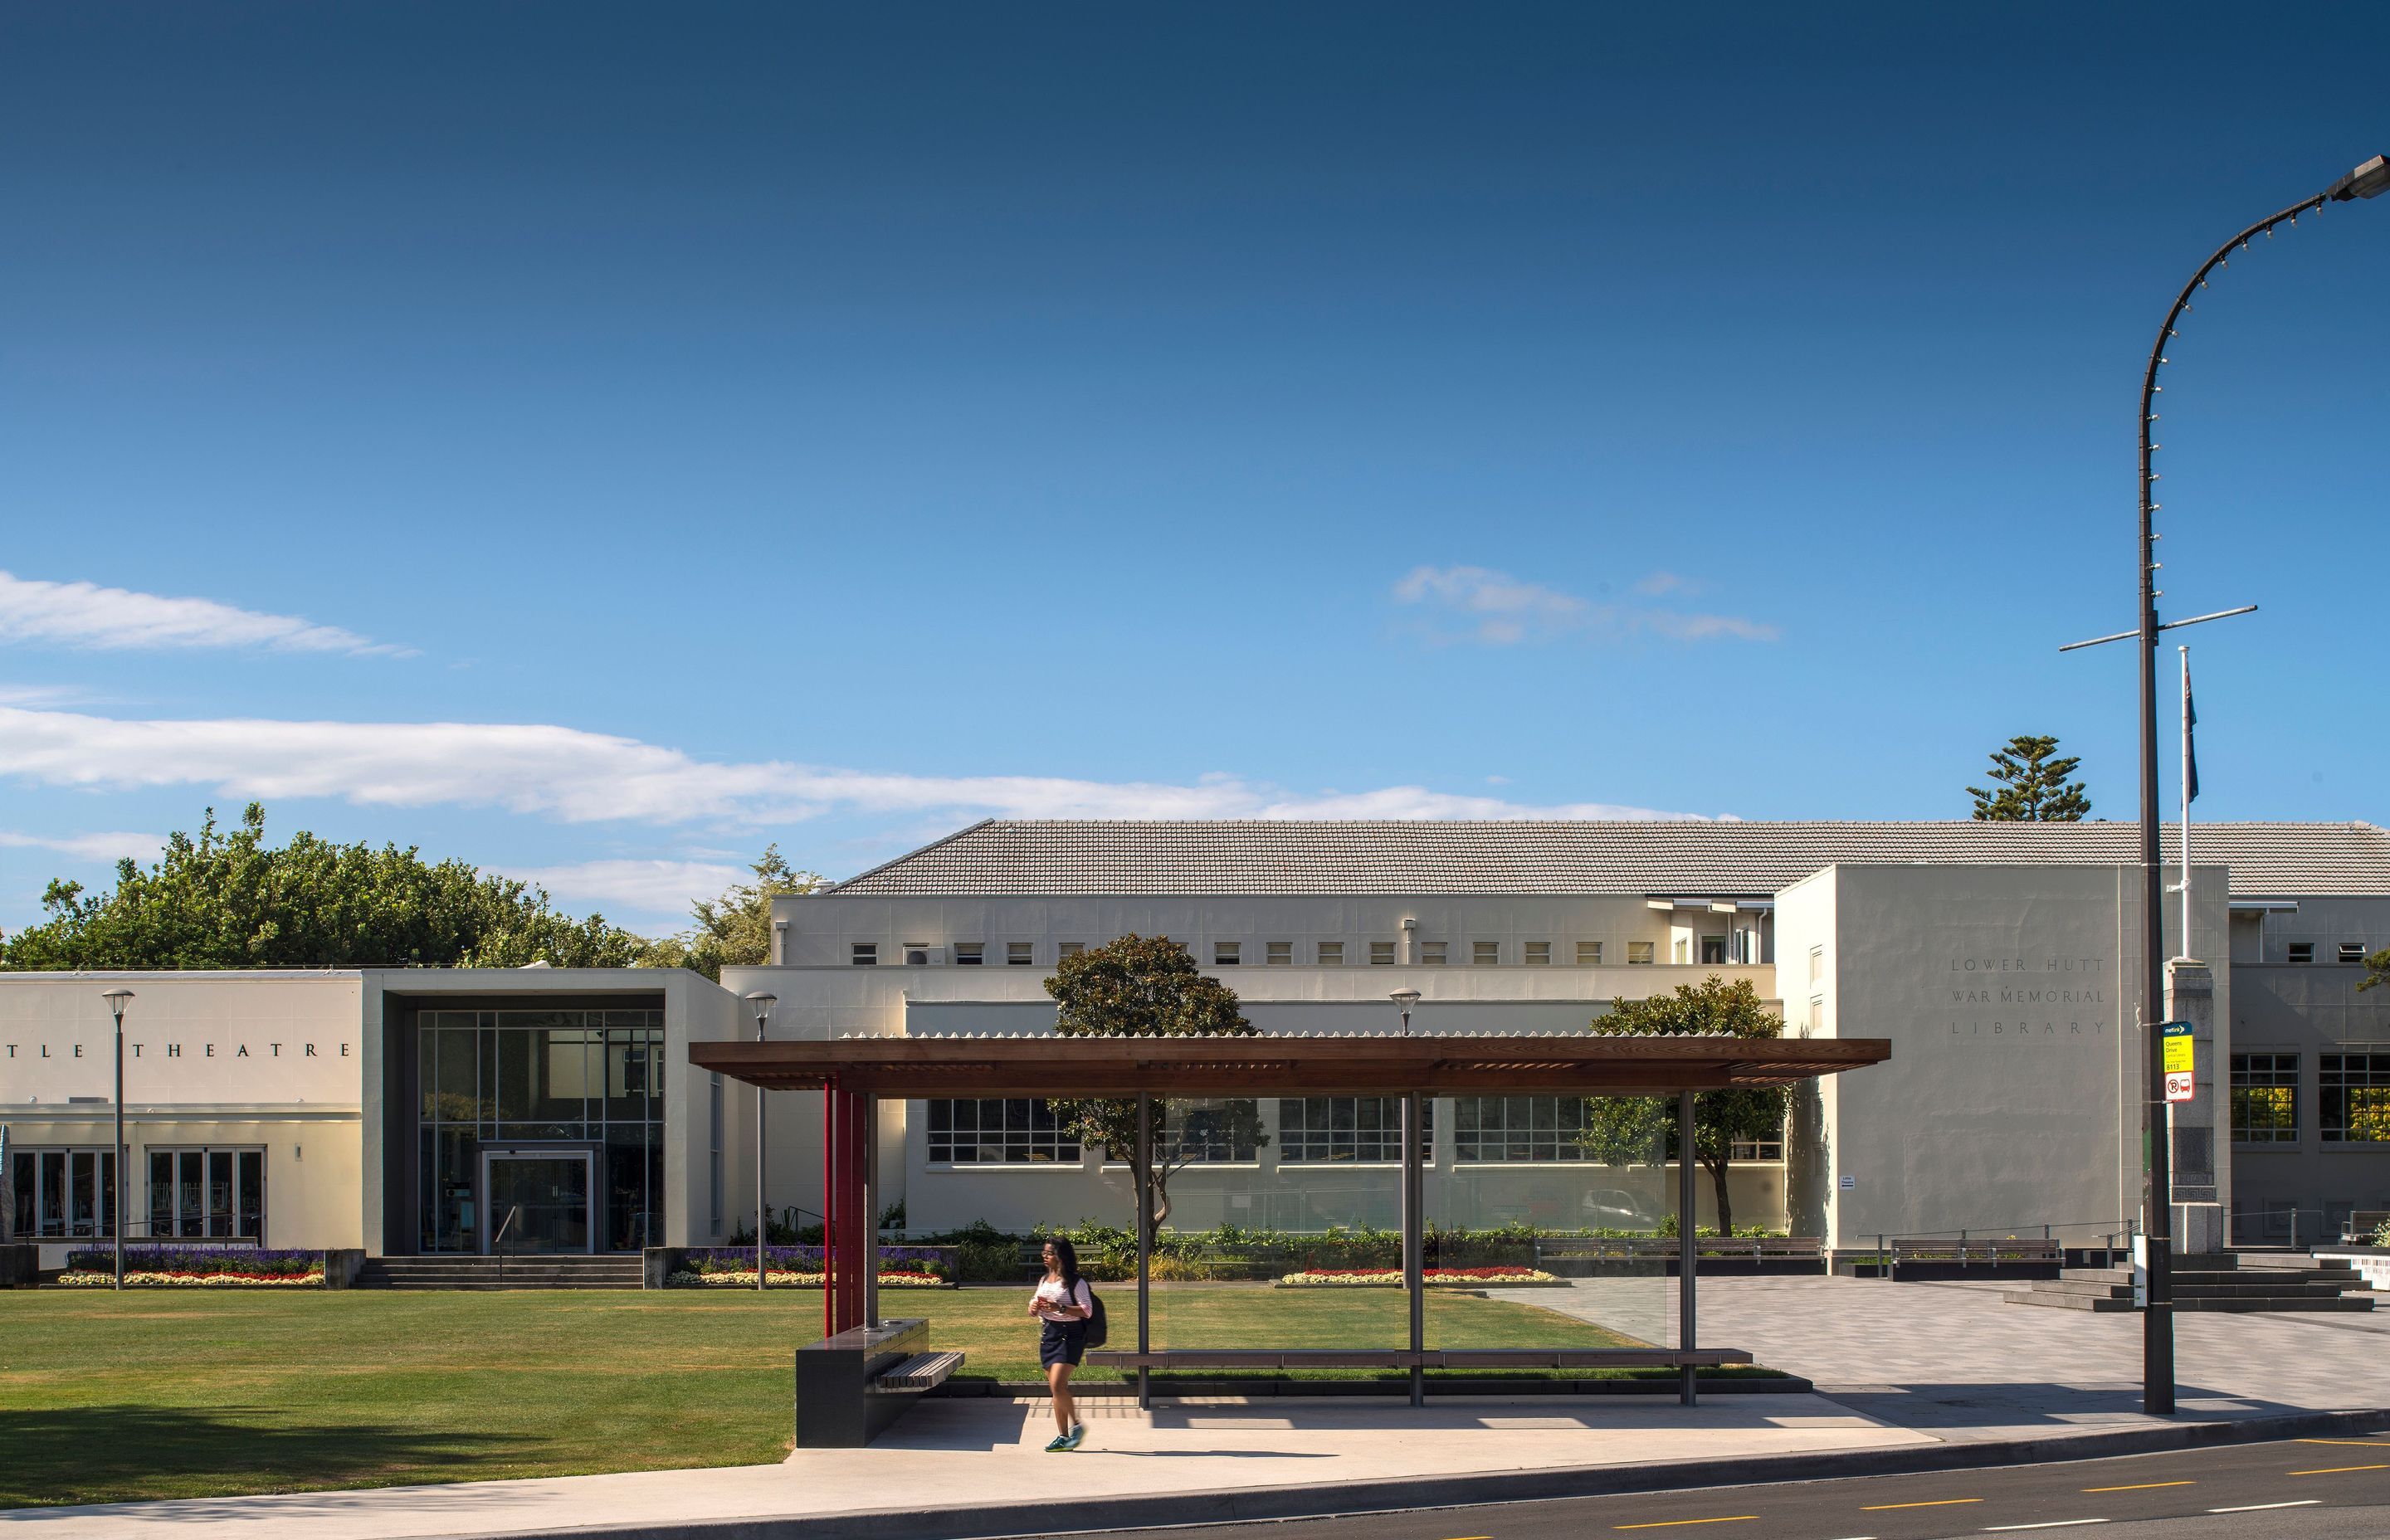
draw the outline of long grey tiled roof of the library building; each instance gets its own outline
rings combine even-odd
[[[2173,858],[2180,830],[2165,827]],[[2371,823],[2196,823],[2235,897],[2390,897]],[[841,894],[1771,894],[1821,866],[2139,861],[2132,823],[994,820],[841,882]]]

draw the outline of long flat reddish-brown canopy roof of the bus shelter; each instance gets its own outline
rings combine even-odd
[[[767,1090],[944,1095],[1324,1095],[1417,1090],[1659,1095],[1792,1086],[1881,1064],[1886,1038],[1252,1035],[832,1038],[691,1043],[688,1062]]]

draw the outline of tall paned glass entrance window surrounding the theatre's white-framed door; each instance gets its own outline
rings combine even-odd
[[[664,1012],[423,1012],[416,1019],[423,1251],[480,1251],[483,1145],[590,1155],[600,1251],[664,1239]]]

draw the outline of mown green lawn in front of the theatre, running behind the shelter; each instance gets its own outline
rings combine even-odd
[[[1111,1287],[1114,1344],[1135,1291]],[[966,1375],[1037,1377],[1018,1289],[882,1296]],[[1396,1346],[1403,1294],[1157,1289],[1157,1346]],[[0,1291],[0,1507],[746,1466],[789,1452],[801,1291]],[[1613,1346],[1432,1294],[1429,1344]],[[1090,1380],[1114,1377],[1087,1370]]]

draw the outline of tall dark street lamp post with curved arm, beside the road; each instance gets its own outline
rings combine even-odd
[[[2173,1416],[2175,1411],[2175,1277],[2173,1277],[2173,1150],[2168,1148],[2165,1133],[2165,1040],[2158,1033],[2158,1021],[2165,1000],[2165,935],[2158,923],[2158,909],[2163,904],[2163,878],[2158,870],[2158,562],[2156,562],[2156,531],[2151,528],[2151,514],[2158,512],[2158,502],[2151,500],[2151,485],[2158,481],[2149,464],[2158,445],[2149,440],[2149,426],[2158,421],[2151,411],[2158,392],[2158,368],[2168,361],[2165,344],[2175,337],[2175,323],[2182,313],[2192,308],[2192,292],[2208,282],[2208,273],[2225,265],[2235,246],[2247,246],[2259,234],[2273,234],[2275,225],[2297,222],[2302,213],[2323,208],[2323,203],[2347,203],[2352,198],[2373,198],[2390,191],[2390,163],[2380,155],[2366,160],[2347,177],[2340,177],[2328,189],[2311,198],[2292,203],[2282,213],[2268,215],[2256,225],[2242,230],[2230,242],[2216,249],[2216,256],[2192,273],[2192,282],[2182,285],[2182,294],[2175,294],[2175,306],[2165,311],[2165,325],[2158,328],[2158,340],[2149,349],[2149,368],[2141,371],[2141,560],[2139,560],[2139,586],[2141,586],[2141,1050],[2144,1050],[2144,1095],[2141,1095],[2141,1138],[2149,1148],[2149,1308],[2141,1313],[2141,1411],[2149,1416]]]

